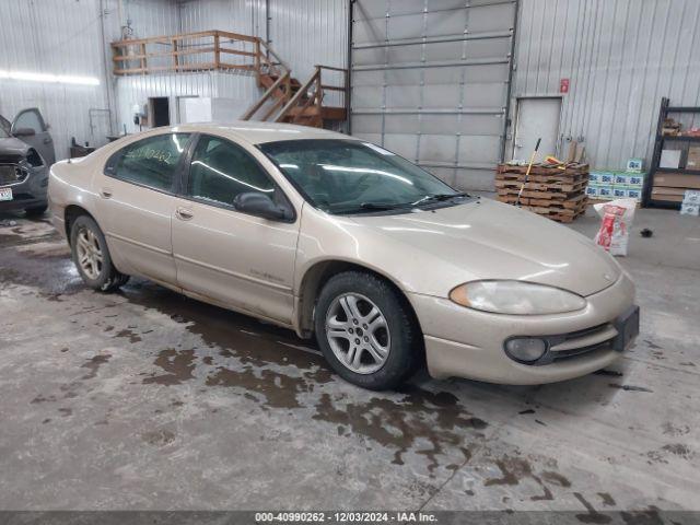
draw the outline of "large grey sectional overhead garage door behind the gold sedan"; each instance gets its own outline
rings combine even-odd
[[[516,12],[516,0],[353,1],[352,135],[460,189],[492,189]]]

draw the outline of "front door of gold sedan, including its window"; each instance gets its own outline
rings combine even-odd
[[[173,253],[179,285],[232,308],[291,324],[299,221],[238,212],[242,192],[284,199],[250,153],[201,136],[184,198],[173,209]]]

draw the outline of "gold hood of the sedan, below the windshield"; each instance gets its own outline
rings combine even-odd
[[[621,273],[615,259],[590,238],[535,213],[490,199],[434,211],[354,220],[409,250],[418,250],[419,254],[412,253],[417,258],[404,264],[422,275],[420,280],[424,282],[435,283],[432,276],[424,277],[427,273],[444,276],[448,289],[477,279],[514,279],[585,296],[609,287]]]

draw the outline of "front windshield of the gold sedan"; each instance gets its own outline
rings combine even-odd
[[[329,213],[452,206],[465,197],[416,164],[370,142],[285,140],[258,147],[316,208]]]

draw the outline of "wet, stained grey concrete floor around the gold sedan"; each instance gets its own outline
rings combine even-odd
[[[632,235],[642,334],[606,371],[377,394],[290,331],[93,292],[46,219],[0,214],[0,509],[700,510],[700,222]]]

